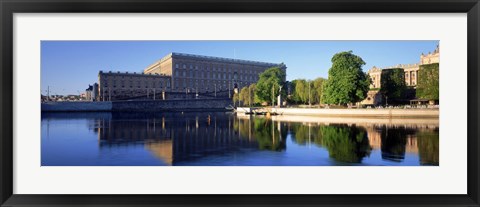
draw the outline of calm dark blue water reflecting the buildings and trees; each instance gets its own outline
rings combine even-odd
[[[439,165],[438,119],[42,113],[41,124],[43,166]]]

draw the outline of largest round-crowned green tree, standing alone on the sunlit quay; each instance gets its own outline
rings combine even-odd
[[[323,102],[344,105],[365,99],[371,80],[362,71],[363,65],[362,58],[352,51],[335,54],[323,85]]]

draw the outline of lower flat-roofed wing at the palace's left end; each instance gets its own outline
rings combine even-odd
[[[114,101],[142,97],[165,99],[171,90],[170,76],[129,72],[98,73],[98,100]]]

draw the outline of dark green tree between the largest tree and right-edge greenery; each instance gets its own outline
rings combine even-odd
[[[404,97],[407,85],[405,84],[405,72],[402,68],[382,70],[380,92],[388,100],[398,100]]]

